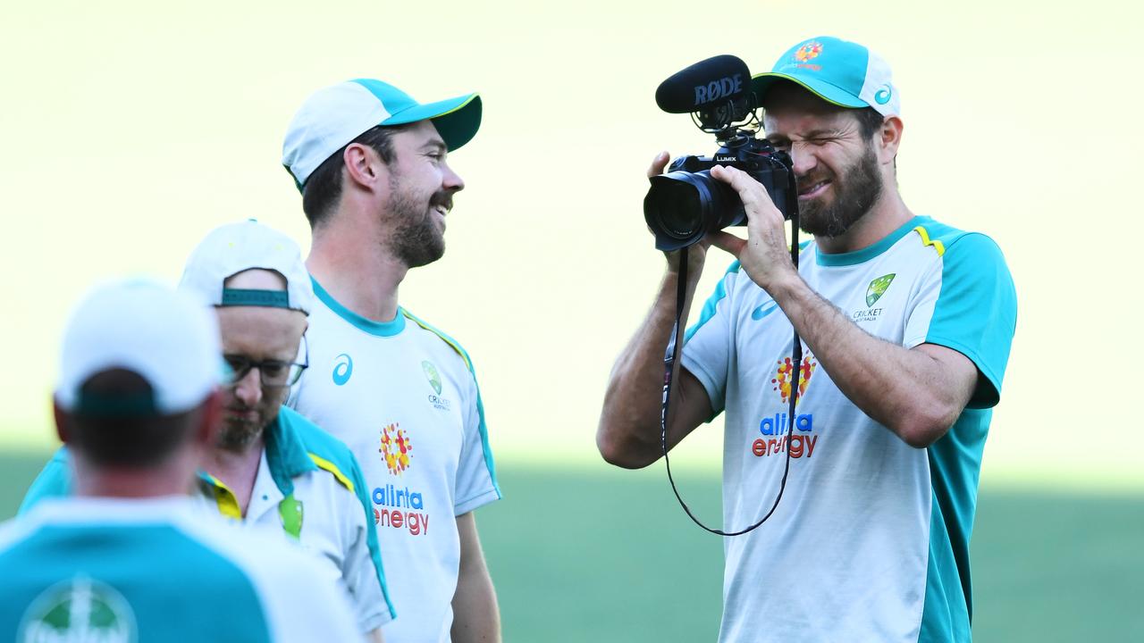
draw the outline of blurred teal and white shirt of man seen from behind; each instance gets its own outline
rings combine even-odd
[[[47,499],[0,526],[5,641],[362,641],[318,563],[186,498]]]

